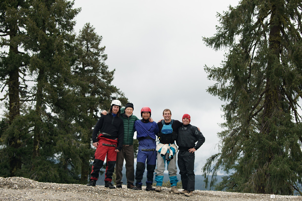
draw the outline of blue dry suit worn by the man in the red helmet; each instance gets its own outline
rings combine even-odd
[[[137,120],[134,123],[139,142],[135,172],[136,185],[142,185],[143,174],[147,166],[146,184],[153,183],[153,173],[156,167],[156,134],[159,132],[155,122]],[[146,165],[147,163],[147,165]]]

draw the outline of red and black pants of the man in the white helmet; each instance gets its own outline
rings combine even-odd
[[[104,164],[105,157],[106,158],[106,173],[105,173],[105,181],[112,181],[112,174],[114,172],[114,166],[116,162],[116,154],[115,151],[117,146],[117,140],[111,140],[104,137],[98,138],[98,148],[95,150],[95,160],[92,164],[92,172],[91,180],[98,180],[98,174],[100,169]],[[114,146],[115,145],[115,146]]]

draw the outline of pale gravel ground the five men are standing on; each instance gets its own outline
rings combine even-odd
[[[182,194],[170,192],[170,188],[163,187],[161,192],[131,190],[123,185],[121,189],[108,189],[104,186],[90,187],[81,184],[56,184],[42,183],[23,177],[0,177],[0,201],[8,200],[72,200],[72,201],[231,201],[231,200],[294,200],[302,201],[302,197],[281,197],[276,195],[271,198],[268,194],[230,193],[224,191],[195,190],[193,196],[186,197]]]

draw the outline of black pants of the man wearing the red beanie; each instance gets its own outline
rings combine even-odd
[[[182,179],[182,188],[186,190],[195,190],[194,174],[195,154],[188,151],[178,150],[178,168]]]

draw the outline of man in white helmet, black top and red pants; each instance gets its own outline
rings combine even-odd
[[[112,174],[116,162],[116,155],[122,149],[124,124],[120,116],[121,102],[113,100],[108,115],[102,115],[92,132],[92,143],[96,147],[95,160],[92,164],[90,182],[87,186],[95,186],[98,175],[106,158],[105,187],[115,188],[112,184]],[[98,132],[101,133],[98,135]]]

